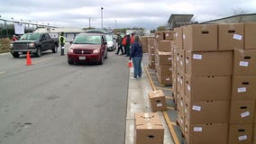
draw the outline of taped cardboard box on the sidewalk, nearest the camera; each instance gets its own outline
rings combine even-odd
[[[134,144],[163,144],[164,128],[157,112],[135,113]]]

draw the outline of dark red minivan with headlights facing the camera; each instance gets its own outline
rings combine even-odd
[[[80,33],[68,50],[68,63],[96,63],[102,65],[107,58],[105,34]]]

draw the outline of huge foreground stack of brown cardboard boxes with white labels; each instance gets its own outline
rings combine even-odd
[[[256,66],[256,44],[243,49],[246,38],[253,41],[246,31],[244,40],[248,25],[202,24],[174,30],[173,95],[188,144],[251,143],[256,93],[249,90],[255,75],[250,67]],[[251,29],[256,32],[255,24]]]

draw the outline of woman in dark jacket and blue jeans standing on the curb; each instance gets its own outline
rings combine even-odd
[[[142,42],[138,35],[135,36],[134,43],[131,49],[130,60],[133,58],[133,77],[131,79],[141,78],[142,77]]]

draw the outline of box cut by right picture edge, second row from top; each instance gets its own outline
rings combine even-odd
[[[233,75],[256,75],[255,67],[256,49],[234,50]]]

